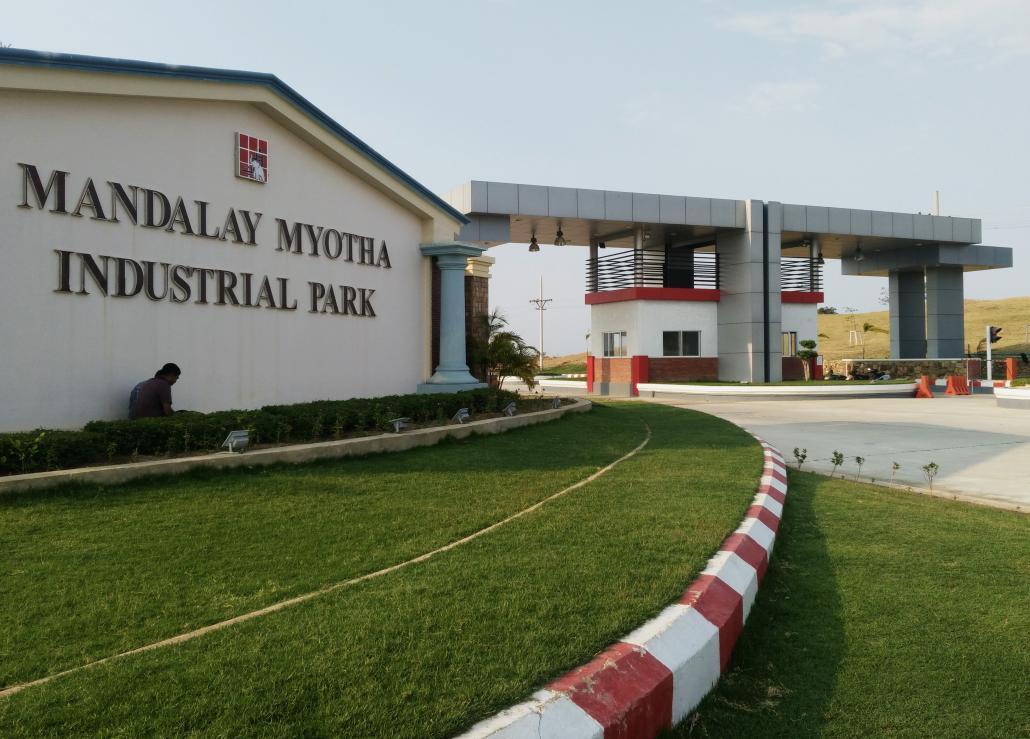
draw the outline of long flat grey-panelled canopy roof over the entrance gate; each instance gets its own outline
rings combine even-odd
[[[748,228],[745,200],[484,180],[466,182],[444,199],[471,221],[459,238],[487,246],[525,243],[533,236],[541,244],[552,244],[560,230],[569,245],[631,247],[641,229],[645,247],[660,247]],[[806,257],[815,243],[824,258],[843,260],[848,274],[887,274],[922,265],[964,270],[1012,265],[1010,248],[980,243],[980,219],[772,201],[768,205],[770,231],[781,232],[783,255]],[[855,260],[859,250],[862,259]]]

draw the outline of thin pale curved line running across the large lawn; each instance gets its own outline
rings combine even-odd
[[[72,673],[80,672],[81,670],[87,670],[87,669],[90,669],[92,667],[98,667],[100,665],[105,665],[105,664],[113,662],[115,660],[121,660],[122,658],[125,658],[125,657],[131,657],[133,654],[139,654],[139,653],[142,653],[142,652],[145,652],[145,651],[151,651],[153,649],[160,649],[160,648],[165,647],[165,646],[172,646],[172,645],[175,645],[175,644],[181,644],[183,642],[191,641],[191,640],[196,639],[198,637],[204,636],[205,634],[209,634],[209,633],[215,632],[215,631],[220,631],[222,629],[227,629],[227,628],[229,628],[231,626],[234,626],[236,624],[241,624],[243,622],[251,620],[253,618],[258,618],[258,617],[263,616],[263,615],[268,615],[269,613],[274,613],[276,611],[283,610],[284,608],[288,608],[290,606],[295,606],[295,605],[298,605],[300,603],[305,603],[307,601],[313,600],[315,598],[318,598],[320,596],[327,595],[329,593],[333,593],[335,591],[339,591],[339,590],[342,590],[344,587],[349,587],[351,585],[355,585],[355,584],[358,584],[360,582],[365,582],[367,580],[375,579],[377,577],[382,577],[383,575],[388,575],[388,574],[390,574],[392,572],[397,572],[398,570],[401,570],[403,568],[409,567],[411,565],[415,565],[415,564],[418,564],[420,562],[425,562],[426,560],[428,560],[428,559],[431,559],[433,557],[436,557],[437,555],[443,553],[445,551],[449,551],[449,550],[454,549],[454,548],[456,548],[458,546],[461,546],[462,544],[467,544],[470,541],[478,539],[481,536],[489,534],[490,532],[492,532],[492,531],[501,528],[501,527],[505,526],[506,524],[509,524],[509,523],[511,523],[511,522],[513,522],[513,520],[515,520],[517,518],[521,518],[522,516],[527,515],[528,513],[531,513],[535,510],[538,510],[539,508],[541,508],[542,506],[546,505],[547,503],[549,503],[549,502],[551,502],[553,500],[556,500],[556,499],[558,499],[558,498],[560,498],[560,497],[562,497],[562,496],[564,496],[564,495],[566,495],[569,493],[572,493],[573,491],[579,490],[580,488],[583,488],[584,485],[589,484],[593,480],[595,480],[598,477],[600,477],[600,476],[605,475],[606,473],[610,472],[612,469],[614,469],[616,466],[618,466],[622,462],[625,462],[626,460],[628,460],[628,459],[637,456],[645,446],[647,446],[648,442],[651,440],[651,427],[648,426],[647,424],[644,424],[644,431],[645,431],[645,435],[644,435],[644,440],[643,441],[641,441],[631,450],[627,451],[625,455],[623,455],[619,459],[615,460],[614,462],[609,463],[605,467],[602,467],[599,470],[597,470],[593,474],[591,474],[591,475],[589,475],[587,477],[584,477],[583,479],[579,480],[578,482],[574,482],[573,484],[569,485],[568,488],[564,488],[564,489],[558,491],[557,493],[554,493],[553,495],[550,495],[547,498],[544,498],[543,500],[540,500],[540,501],[534,503],[533,505],[530,505],[530,506],[528,506],[526,508],[523,508],[522,510],[520,510],[520,511],[518,511],[516,513],[513,513],[513,514],[507,516],[506,518],[502,518],[501,520],[495,522],[495,523],[493,523],[493,524],[491,524],[491,525],[489,525],[489,526],[483,528],[483,529],[480,529],[479,531],[473,532],[472,534],[469,534],[468,536],[461,537],[460,539],[455,539],[454,541],[451,541],[450,543],[444,544],[443,546],[437,547],[436,549],[432,549],[432,550],[426,551],[426,552],[424,552],[422,555],[419,555],[417,557],[413,557],[413,558],[411,558],[409,560],[405,560],[404,562],[400,562],[400,563],[398,563],[396,565],[390,565],[389,567],[384,567],[384,568],[382,568],[380,570],[376,570],[375,572],[369,572],[369,573],[366,573],[364,575],[359,575],[357,577],[352,577],[352,578],[347,579],[347,580],[342,580],[340,582],[334,582],[333,584],[327,585],[327,586],[318,589],[316,591],[312,591],[310,593],[305,593],[305,594],[300,595],[300,596],[295,596],[294,598],[288,598],[286,600],[279,601],[278,603],[273,603],[272,605],[265,606],[264,608],[259,608],[258,610],[253,610],[253,611],[250,611],[248,613],[242,613],[242,614],[240,614],[238,616],[234,616],[233,618],[228,618],[226,620],[217,622],[215,624],[209,624],[208,626],[202,627],[200,629],[195,629],[193,631],[184,632],[182,634],[177,634],[176,636],[169,637],[167,639],[162,639],[161,641],[156,641],[156,642],[153,642],[151,644],[146,644],[144,646],[140,646],[140,647],[137,647],[135,649],[129,649],[127,651],[118,652],[117,654],[112,654],[110,657],[105,657],[105,658],[103,658],[101,660],[95,660],[95,661],[87,663],[84,665],[79,665],[78,667],[73,667],[73,668],[68,669],[68,670],[63,670],[61,672],[54,673],[53,675],[47,675],[46,677],[40,677],[40,678],[38,678],[36,680],[30,680],[28,682],[23,682],[23,683],[20,683],[20,684],[15,684],[15,685],[10,685],[10,686],[4,687],[4,688],[0,690],[0,698],[5,698],[7,696],[12,696],[15,693],[20,693],[20,692],[22,692],[22,691],[24,691],[26,688],[35,687],[37,685],[42,685],[42,684],[45,684],[47,682],[50,682],[52,680],[56,680],[59,677],[64,677],[66,675],[70,675]]]

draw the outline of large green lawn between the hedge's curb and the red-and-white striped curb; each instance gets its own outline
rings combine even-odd
[[[761,450],[711,416],[612,404],[364,460],[0,498],[7,685],[440,546],[619,458],[645,422],[640,455],[486,536],[0,699],[0,735],[452,735],[675,600],[740,523]]]

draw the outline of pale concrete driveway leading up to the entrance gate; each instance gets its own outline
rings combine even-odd
[[[998,408],[993,395],[856,400],[711,401],[665,398],[653,402],[694,408],[726,418],[779,447],[793,463],[795,446],[809,450],[805,469],[829,472],[834,450],[845,456],[842,470],[862,478],[890,478],[891,463],[901,469],[896,481],[925,488],[922,467],[940,470],[934,492],[1030,510],[1030,412]]]

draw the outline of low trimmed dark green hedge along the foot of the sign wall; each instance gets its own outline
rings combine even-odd
[[[321,400],[267,405],[259,410],[182,412],[164,418],[91,421],[81,431],[0,434],[0,474],[41,472],[133,458],[216,451],[230,431],[248,429],[253,444],[304,443],[388,431],[390,419],[415,424],[445,422],[459,408],[500,411],[517,398],[509,391],[482,389],[440,395]]]

